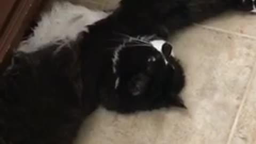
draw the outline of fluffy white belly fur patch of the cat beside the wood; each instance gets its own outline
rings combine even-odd
[[[72,41],[79,32],[87,31],[87,25],[107,16],[108,13],[102,11],[92,11],[69,2],[57,2],[51,11],[42,15],[38,26],[33,30],[34,34],[21,42],[18,51],[33,52],[48,43]]]

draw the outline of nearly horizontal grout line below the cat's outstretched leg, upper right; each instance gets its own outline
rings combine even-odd
[[[226,33],[226,34],[231,34],[231,35],[236,35],[236,36],[256,40],[255,36],[250,36],[250,35],[246,35],[246,34],[232,32],[232,31],[229,31],[229,30],[221,29],[221,28],[215,28],[215,27],[211,27],[211,26],[201,25],[201,24],[198,24],[198,23],[194,23],[194,25],[205,28],[205,29],[209,29],[209,30],[219,31],[219,32]]]

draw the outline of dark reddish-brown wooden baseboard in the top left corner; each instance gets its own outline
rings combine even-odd
[[[0,10],[7,7],[0,17],[0,64],[15,49],[24,31],[29,27],[35,15],[39,13],[42,0],[0,1]],[[9,10],[8,10],[9,9]]]

